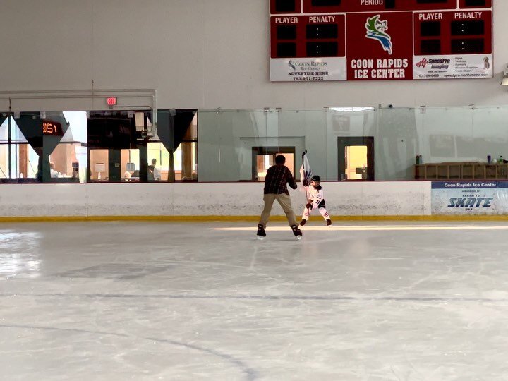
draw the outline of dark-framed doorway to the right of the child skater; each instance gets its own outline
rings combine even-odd
[[[337,138],[339,181],[374,181],[374,138]]]

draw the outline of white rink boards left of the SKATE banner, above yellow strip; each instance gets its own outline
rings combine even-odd
[[[258,216],[262,188],[262,183],[2,184],[0,219]],[[430,215],[430,182],[325,182],[323,188],[332,219]],[[291,198],[298,219],[306,198],[300,191],[291,191]],[[284,215],[277,202],[272,214]]]

